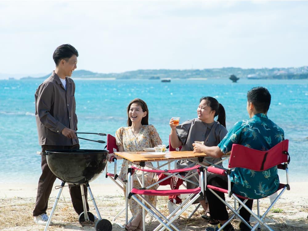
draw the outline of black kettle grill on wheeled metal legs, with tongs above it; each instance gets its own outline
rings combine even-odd
[[[96,133],[99,135],[105,135],[103,133]],[[80,137],[79,137],[80,138]],[[94,141],[94,140],[90,140]],[[97,141],[95,141],[97,142]],[[104,141],[99,141],[103,143]],[[78,149],[78,150],[48,150],[45,153],[38,154],[46,155],[48,167],[58,177],[62,183],[59,193],[52,207],[49,219],[45,226],[44,231],[48,230],[52,215],[55,211],[57,203],[59,201],[62,189],[67,183],[68,185],[80,185],[83,212],[79,215],[79,223],[81,225],[93,225],[95,224],[96,231],[111,231],[112,224],[107,219],[102,219],[99,214],[99,210],[95,203],[92,191],[90,189],[89,182],[96,179],[105,169],[108,158],[107,150],[91,150],[91,149]],[[95,211],[99,218],[95,222],[95,217],[92,213],[87,212],[86,198],[84,195],[83,185],[87,186],[91,201],[93,202]]]

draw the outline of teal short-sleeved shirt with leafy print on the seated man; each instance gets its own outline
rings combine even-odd
[[[221,152],[228,153],[233,144],[240,144],[257,150],[268,150],[284,140],[284,131],[265,114],[237,122],[218,144]],[[273,194],[279,186],[277,167],[265,171],[235,168],[231,172],[234,182],[232,192],[259,199]]]

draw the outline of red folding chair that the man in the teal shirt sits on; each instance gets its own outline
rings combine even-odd
[[[214,168],[214,167],[208,167],[207,171],[211,173],[221,174],[221,175],[227,175],[228,177],[228,189],[218,188],[213,185],[206,185],[206,190],[210,190],[216,197],[220,199],[232,212],[234,213],[229,220],[221,226],[219,230],[222,230],[228,223],[235,217],[239,217],[241,221],[243,221],[246,226],[250,227],[251,230],[255,230],[258,228],[260,224],[265,226],[269,230],[271,229],[266,223],[265,223],[265,216],[270,211],[270,209],[275,205],[275,203],[278,201],[278,199],[281,197],[281,195],[285,192],[285,190],[290,190],[289,185],[289,174],[288,174],[288,164],[290,162],[290,156],[288,153],[288,145],[289,140],[284,140],[280,142],[279,144],[275,145],[273,148],[267,151],[260,151],[251,149],[248,147],[245,147],[243,145],[233,144],[230,160],[229,160],[229,166],[228,169],[224,169],[222,167]],[[277,189],[282,191],[278,194],[278,196],[275,198],[275,200],[271,203],[270,207],[265,211],[265,213],[260,217],[260,208],[259,208],[259,196],[256,195],[256,198],[245,198],[243,196],[237,195],[231,191],[231,170],[233,168],[245,168],[245,169],[251,169],[254,171],[265,171],[267,169],[270,169],[274,166],[277,166],[278,169],[286,170],[286,184],[279,184],[279,187]],[[236,203],[234,202],[234,209],[219,195],[215,192],[221,192],[221,193],[227,193],[229,197],[233,197],[236,201],[239,203],[239,208],[236,209]],[[276,191],[276,192],[277,192]],[[239,198],[245,199],[244,201],[241,201]],[[264,197],[263,197],[264,198]],[[246,205],[246,201],[248,199],[257,199],[257,214],[253,213]],[[260,198],[261,199],[261,198]],[[257,223],[251,227],[239,214],[239,210],[244,207],[256,220]],[[258,228],[259,229],[259,228]]]

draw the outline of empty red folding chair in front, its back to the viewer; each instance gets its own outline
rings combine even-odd
[[[173,174],[173,173],[180,173],[180,172],[188,172],[188,171],[191,171],[191,170],[194,170],[194,169],[197,169],[198,174],[199,174],[199,187],[197,187],[195,189],[151,190],[151,189],[147,189],[147,188],[140,188],[140,189],[133,188],[132,177],[133,177],[133,174],[136,170],[140,170],[140,171],[143,171],[143,172]],[[180,231],[179,229],[176,228],[175,225],[172,224],[172,222],[175,221],[176,218],[178,218],[190,205],[192,205],[199,198],[199,196],[203,197],[204,181],[205,181],[204,168],[201,167],[200,165],[195,165],[191,168],[173,169],[173,170],[151,170],[151,169],[143,169],[143,168],[140,169],[140,168],[136,168],[136,167],[131,167],[131,168],[128,169],[128,186],[130,187],[130,193],[128,195],[128,199],[135,200],[140,206],[143,207],[143,209],[145,209],[149,214],[152,214],[153,217],[155,217],[156,220],[160,222],[160,225],[158,227],[156,227],[156,229],[154,229],[155,231],[156,230],[164,230],[164,229],[168,229],[170,231],[172,231],[172,230]],[[171,195],[180,195],[180,194],[189,194],[189,196],[168,217],[165,217],[162,213],[160,213],[144,197],[144,195],[171,196]],[[144,203],[143,203],[143,201],[144,201]],[[148,208],[147,205],[150,208]]]

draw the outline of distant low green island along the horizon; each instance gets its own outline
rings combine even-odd
[[[189,70],[135,70],[123,73],[95,73],[88,70],[75,70],[72,78],[115,78],[115,79],[188,79],[188,78],[229,78],[236,75],[237,78],[247,79],[307,79],[308,66],[290,68],[261,68],[242,69],[237,67],[224,67],[212,69],[189,69]],[[35,78],[46,79],[50,74]],[[22,79],[33,79],[34,77],[24,77]]]

